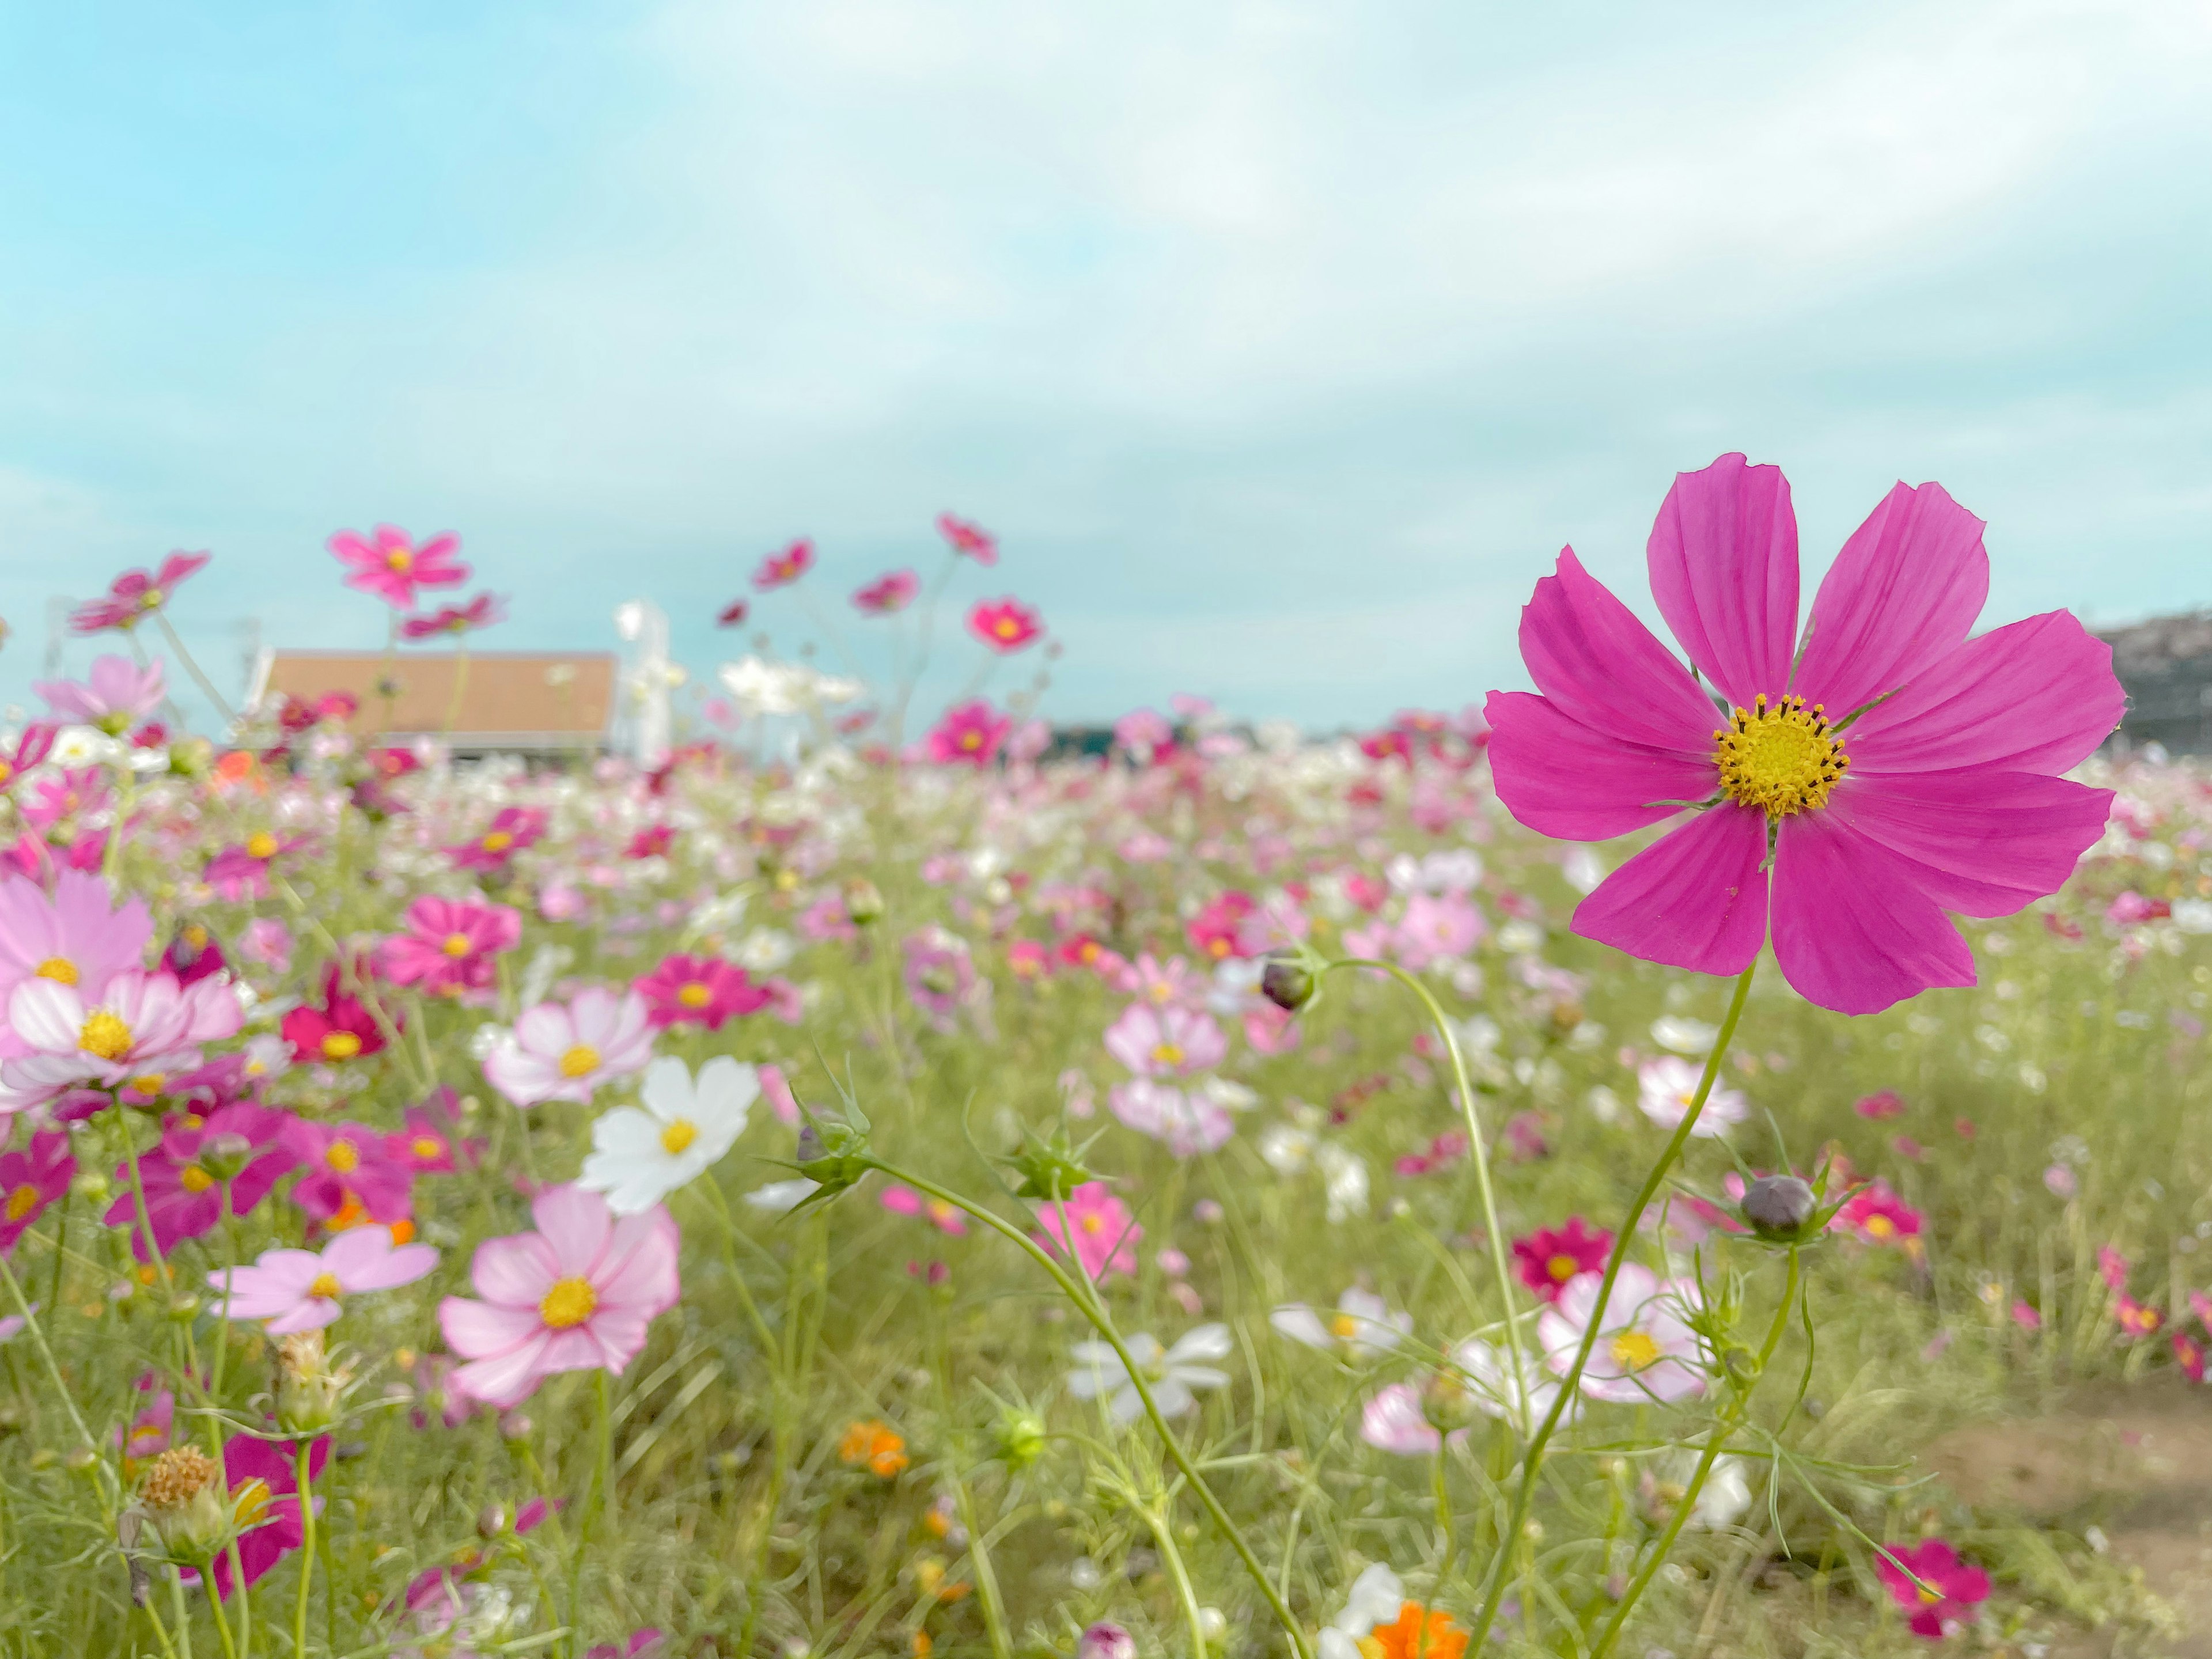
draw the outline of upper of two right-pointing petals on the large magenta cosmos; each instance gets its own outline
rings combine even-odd
[[[2066,611],[1969,639],[1845,732],[1851,774],[2064,772],[2119,726],[2112,648]]]

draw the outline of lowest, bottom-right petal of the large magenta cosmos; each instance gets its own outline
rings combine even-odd
[[[1834,812],[1783,818],[1774,958],[1809,1002],[1878,1013],[1938,984],[1973,984],[1973,951],[1920,867]]]

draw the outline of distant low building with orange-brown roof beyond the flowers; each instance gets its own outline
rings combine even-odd
[[[458,697],[456,697],[458,681]],[[615,714],[608,650],[263,650],[250,703],[347,692],[378,743],[436,737],[453,754],[599,754]]]

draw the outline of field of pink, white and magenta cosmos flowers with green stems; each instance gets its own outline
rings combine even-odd
[[[1661,509],[1697,681],[1568,555],[1537,695],[1099,752],[761,641],[653,765],[195,734],[199,566],[119,577],[0,768],[0,1652],[2159,1652],[2097,1513],[1929,1447],[2203,1383],[2212,781],[2093,754],[2070,619],[1911,759],[2004,675],[1978,520],[1885,502],[1838,568],[1936,622],[1832,577],[1792,655],[1767,473]],[[1042,659],[942,533],[847,626]],[[1621,661],[1679,686],[1599,721]]]

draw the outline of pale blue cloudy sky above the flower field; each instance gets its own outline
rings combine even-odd
[[[2212,604],[2208,93],[2163,0],[0,0],[0,697],[173,546],[226,684],[380,641],[376,520],[487,646],[648,595],[708,670],[763,551],[951,507],[1053,712],[1340,726],[1522,684],[1562,542],[1648,613],[1723,449],[1814,568],[1940,478],[1991,619]]]

